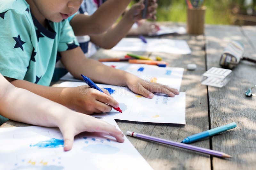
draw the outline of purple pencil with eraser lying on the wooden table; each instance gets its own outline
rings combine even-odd
[[[188,144],[183,144],[183,143],[179,143],[179,142],[174,142],[174,141],[166,140],[166,139],[162,139],[162,138],[156,138],[156,137],[144,135],[144,134],[141,134],[141,133],[127,131],[126,134],[129,135],[129,136],[135,137],[135,138],[147,139],[147,140],[159,142],[159,143],[162,143],[162,144],[177,146],[177,147],[180,147],[180,148],[184,148],[184,149],[188,149],[188,150],[192,150],[192,151],[196,151],[196,152],[201,152],[201,153],[206,153],[206,154],[209,154],[209,155],[214,155],[214,156],[218,156],[218,157],[222,157],[222,158],[232,158],[230,155],[228,155],[226,153],[223,153],[223,152],[214,151],[214,150],[211,150],[211,149],[205,149],[205,148],[201,148],[201,147],[197,147],[197,146],[193,146],[193,145],[188,145]]]

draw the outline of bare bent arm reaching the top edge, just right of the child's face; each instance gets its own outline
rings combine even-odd
[[[91,16],[75,15],[70,25],[76,36],[103,33],[114,24],[130,2],[131,0],[108,0]]]

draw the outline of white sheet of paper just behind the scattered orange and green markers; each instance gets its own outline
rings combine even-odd
[[[145,51],[171,54],[190,54],[191,50],[185,40],[146,38],[144,43],[139,38],[123,38],[111,50],[116,51]]]

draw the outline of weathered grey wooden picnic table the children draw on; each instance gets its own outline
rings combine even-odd
[[[163,22],[160,25],[185,26]],[[170,67],[186,68],[195,63],[195,71],[185,69],[180,91],[186,92],[186,124],[144,123],[116,120],[125,134],[127,130],[180,142],[195,133],[236,122],[237,127],[196,145],[230,154],[232,159],[180,149],[173,146],[128,137],[152,168],[167,169],[255,169],[256,166],[256,97],[246,97],[245,90],[256,84],[256,65],[242,61],[233,69],[233,78],[223,88],[207,87],[200,76],[211,67],[219,67],[220,54],[230,40],[244,43],[245,56],[256,59],[256,27],[206,25],[205,35],[165,35],[158,38],[182,39],[188,42],[191,54],[144,53],[161,56]],[[100,49],[93,59],[124,57],[127,52]],[[254,91],[256,93],[256,91]],[[170,108],[172,111],[172,108]],[[8,120],[1,127],[28,126]]]

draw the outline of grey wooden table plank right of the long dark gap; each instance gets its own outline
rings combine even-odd
[[[245,29],[243,29],[245,30]],[[247,37],[255,37],[255,29],[242,32],[238,26],[206,26],[207,68],[219,67],[220,54],[230,40],[244,43],[245,56],[255,56],[255,47]],[[252,40],[252,39],[251,39]],[[252,40],[255,42],[255,39]],[[213,169],[254,169],[256,165],[256,97],[244,92],[256,80],[256,67],[242,61],[233,69],[232,80],[223,88],[208,87],[211,128],[236,122],[233,130],[213,136],[212,149],[233,156],[232,159],[212,158]]]

